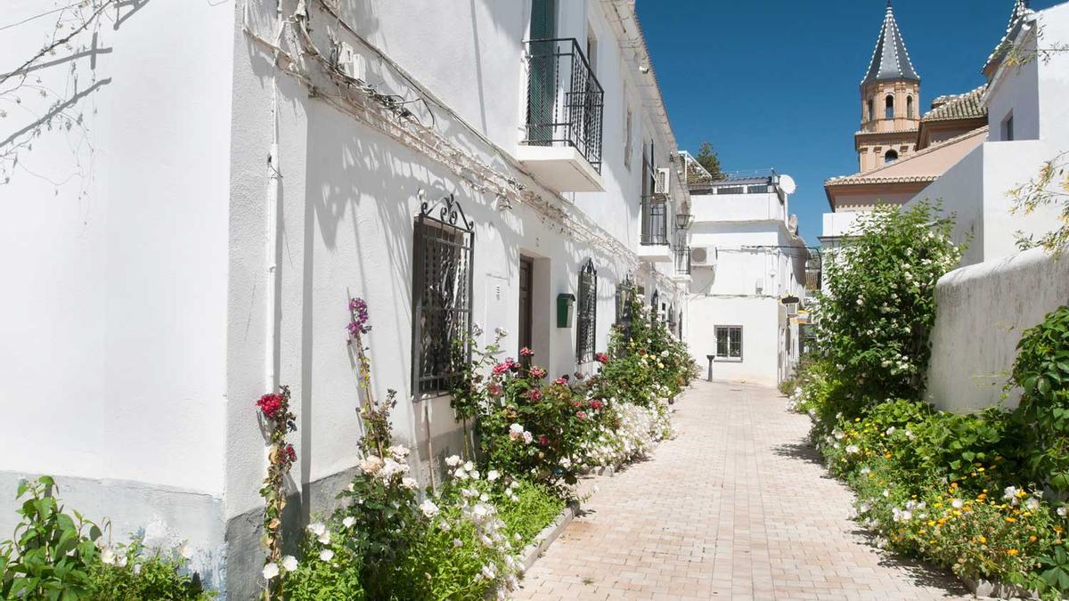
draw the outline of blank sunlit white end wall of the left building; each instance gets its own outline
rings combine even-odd
[[[215,4],[111,10],[96,50],[78,36],[0,107],[0,140],[58,102],[81,120],[53,121],[0,185],[4,535],[14,482],[45,473],[117,537],[156,522],[221,543],[234,6]],[[0,32],[0,73],[58,16]]]

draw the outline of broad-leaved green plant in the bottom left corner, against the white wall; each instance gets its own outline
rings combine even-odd
[[[89,599],[90,572],[98,560],[100,528],[77,511],[68,514],[48,476],[18,487],[27,497],[13,540],[0,542],[0,597],[64,601]]]

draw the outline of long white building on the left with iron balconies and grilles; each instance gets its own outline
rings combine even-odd
[[[591,371],[625,278],[685,309],[667,231],[688,194],[633,2],[337,5],[5,7],[26,22],[2,73],[89,25],[0,86],[18,98],[0,104],[0,531],[16,480],[51,474],[68,506],[188,539],[249,598],[254,400],[293,390],[295,517],[357,463],[350,296],[424,483],[461,442],[451,336],[503,327],[552,374]]]

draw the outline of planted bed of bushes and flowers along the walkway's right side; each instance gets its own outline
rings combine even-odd
[[[1069,308],[1025,333],[1013,411],[920,401],[934,286],[961,249],[921,203],[881,209],[827,268],[817,357],[789,406],[812,419],[828,469],[857,494],[881,548],[951,570],[981,591],[1069,591]],[[988,583],[981,585],[981,583]]]

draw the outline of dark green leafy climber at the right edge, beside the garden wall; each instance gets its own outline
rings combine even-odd
[[[1069,307],[1051,312],[1018,343],[1010,385],[1022,389],[1013,413],[1029,478],[1069,492]]]

